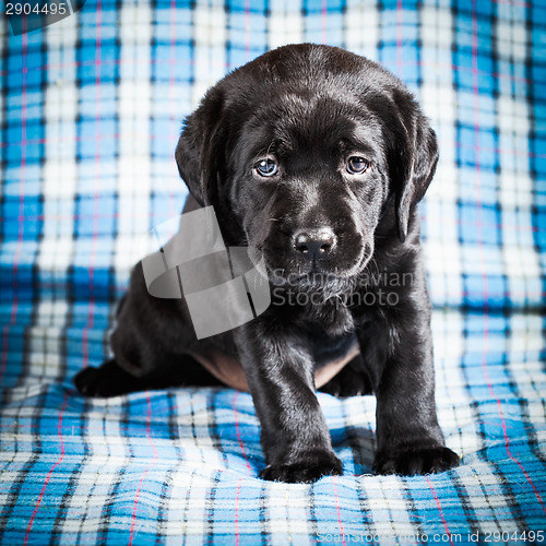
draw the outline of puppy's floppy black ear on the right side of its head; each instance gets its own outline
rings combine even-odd
[[[399,237],[404,242],[412,209],[423,199],[438,164],[438,143],[435,131],[417,104],[399,95],[400,127],[390,157],[391,180],[395,192]]]

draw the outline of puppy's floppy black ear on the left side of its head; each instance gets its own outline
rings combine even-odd
[[[225,166],[223,93],[213,87],[186,119],[175,158],[178,171],[201,206],[215,205]]]

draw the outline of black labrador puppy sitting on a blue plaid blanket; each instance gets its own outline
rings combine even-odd
[[[186,211],[212,205],[226,245],[262,253],[271,305],[198,340],[185,298],[151,296],[139,262],[114,359],[82,370],[80,392],[249,390],[268,463],[260,476],[282,482],[342,473],[316,389],[375,393],[377,473],[456,466],[436,414],[416,211],[438,147],[400,80],[335,47],[281,47],[206,93],[176,161]]]

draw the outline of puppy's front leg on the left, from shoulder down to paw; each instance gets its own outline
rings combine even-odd
[[[298,483],[342,474],[316,396],[305,336],[264,316],[234,333],[262,428],[268,466],[260,477]]]

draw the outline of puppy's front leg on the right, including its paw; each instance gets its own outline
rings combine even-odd
[[[427,301],[428,302],[428,301]],[[427,302],[408,298],[404,313],[378,313],[358,330],[377,395],[379,474],[428,474],[459,465],[446,448],[435,403],[435,372]]]

